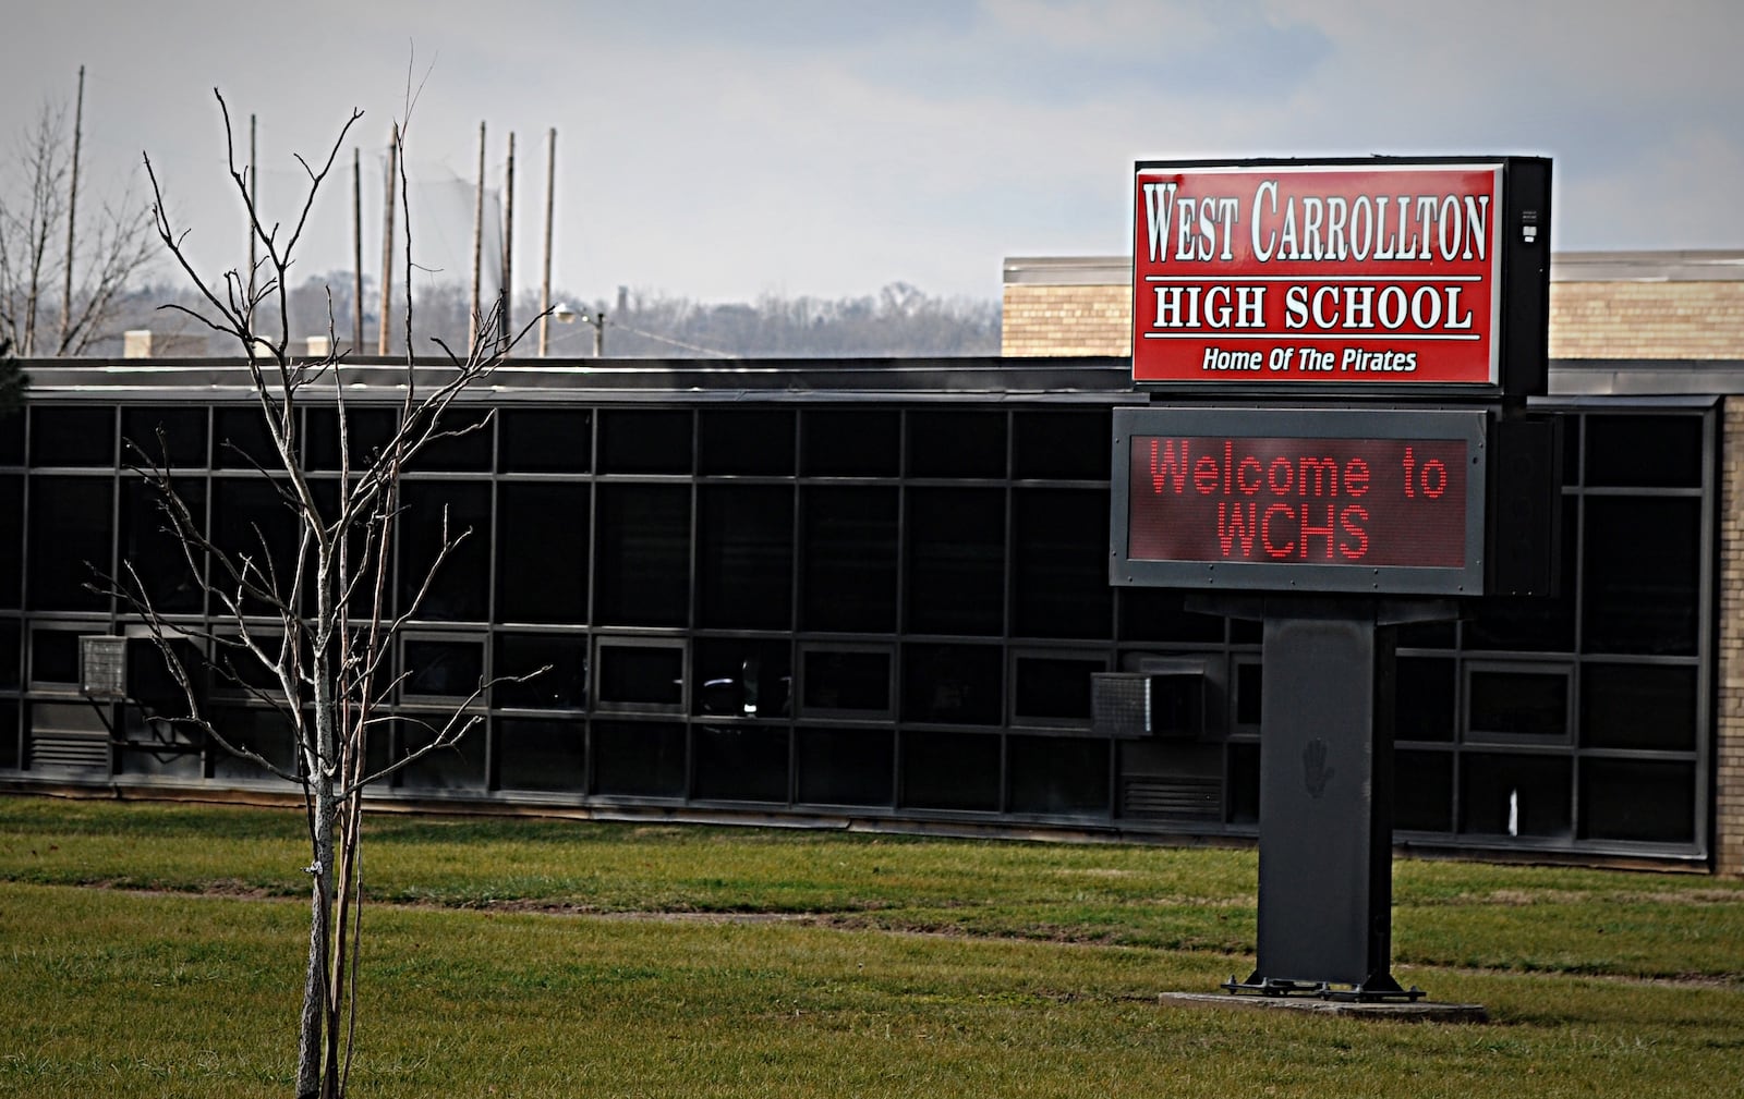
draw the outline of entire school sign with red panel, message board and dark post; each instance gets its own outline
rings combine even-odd
[[[1224,988],[1416,1000],[1393,625],[1554,583],[1550,164],[1141,162],[1132,197],[1151,404],[1114,413],[1109,578],[1264,622],[1257,961]]]

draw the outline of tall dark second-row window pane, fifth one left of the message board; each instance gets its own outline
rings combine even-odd
[[[691,488],[602,484],[596,505],[595,618],[612,625],[685,625]]]

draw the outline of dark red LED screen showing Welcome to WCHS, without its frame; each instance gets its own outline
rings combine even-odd
[[[1467,564],[1463,439],[1134,435],[1127,557]]]

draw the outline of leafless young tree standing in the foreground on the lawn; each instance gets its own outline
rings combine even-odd
[[[166,529],[180,543],[190,573],[209,576],[202,585],[211,606],[220,610],[209,618],[215,625],[190,627],[166,617],[152,603],[152,585],[131,563],[112,582],[112,590],[145,624],[180,688],[176,702],[178,707],[185,704],[185,712],[157,714],[155,719],[202,733],[221,749],[302,791],[312,855],[307,873],[312,885],[296,1094],[337,1097],[347,1087],[358,1021],[363,791],[427,752],[453,747],[480,721],[473,712],[474,704],[490,686],[490,681],[481,679],[445,721],[427,723],[422,749],[403,754],[384,770],[368,768],[370,737],[380,735],[387,721],[406,721],[387,714],[384,707],[384,695],[392,690],[391,679],[384,683],[392,641],[406,620],[417,617],[443,561],[473,535],[448,529],[445,512],[439,545],[433,547],[429,568],[410,587],[410,596],[403,594],[396,601],[389,580],[401,514],[399,479],[426,446],[488,423],[478,416],[455,416],[455,421],[464,423],[448,427],[445,416],[502,361],[499,354],[474,348],[509,348],[525,331],[508,340],[499,338],[501,314],[492,314],[481,319],[481,329],[490,338],[480,340],[466,354],[453,354],[443,345],[439,362],[420,364],[408,352],[399,374],[403,397],[396,427],[373,453],[358,455],[359,448],[349,444],[347,366],[342,355],[335,352],[310,359],[291,354],[286,273],[316,193],[326,183],[345,134],[361,118],[361,111],[352,111],[324,162],[312,165],[298,157],[307,174],[305,193],[295,218],[281,225],[265,218],[255,204],[248,174],[235,160],[230,111],[223,96],[218,96],[218,106],[228,139],[230,181],[249,218],[260,253],[258,270],[228,270],[218,279],[197,272],[183,249],[185,232],[171,223],[157,172],[146,158],[157,197],[157,239],[195,289],[195,305],[166,308],[187,314],[241,348],[270,442],[265,458],[251,460],[288,512],[290,536],[284,531],[272,536],[263,529],[267,524],[256,524],[248,545],[221,543],[178,493],[167,456],[136,448],[134,467],[159,491]],[[405,134],[405,127],[398,132]],[[399,152],[398,160],[405,164],[403,150]],[[405,202],[405,172],[398,183]],[[410,277],[410,240],[405,272]],[[403,320],[410,347],[410,303]],[[330,336],[331,327],[330,310]],[[338,347],[338,341],[330,340],[330,347]],[[300,411],[305,404],[337,411],[337,482],[323,484],[305,472],[300,456]],[[169,448],[160,446],[159,451],[167,455]],[[221,627],[216,625],[220,622]],[[190,650],[204,657],[190,657]],[[209,676],[249,691],[256,702],[279,714],[295,745],[290,761],[272,758],[258,744],[244,742],[213,719],[202,690],[202,681]]]

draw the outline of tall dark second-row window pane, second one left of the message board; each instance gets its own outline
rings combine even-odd
[[[998,636],[1003,608],[1005,493],[909,489],[909,632]]]

